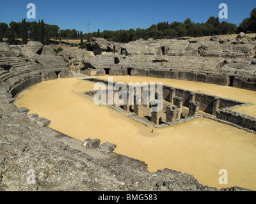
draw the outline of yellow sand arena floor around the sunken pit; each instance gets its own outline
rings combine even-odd
[[[232,87],[162,78],[114,77],[116,80],[158,81],[226,98],[256,101],[255,92]],[[101,143],[115,143],[116,153],[145,161],[149,171],[170,168],[194,175],[201,184],[218,189],[241,186],[256,190],[255,134],[208,119],[154,129],[152,133],[152,128],[111,108],[97,106],[92,98],[81,94],[92,90],[93,85],[77,78],[42,82],[20,93],[15,105],[51,120],[50,128],[78,140],[99,138]],[[218,182],[221,169],[228,171],[227,185]]]

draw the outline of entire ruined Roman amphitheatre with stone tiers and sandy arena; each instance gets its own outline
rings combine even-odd
[[[255,36],[0,43],[0,191],[255,191]],[[163,83],[163,109],[96,105],[109,77]]]

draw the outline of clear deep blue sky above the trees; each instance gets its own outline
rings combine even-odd
[[[26,18],[28,3],[36,5],[36,19]],[[188,17],[195,23],[206,22],[211,16],[218,17],[221,3],[228,5],[228,19],[224,20],[237,25],[250,17],[256,7],[255,0],[0,0],[0,22],[44,19],[46,24],[58,25],[60,29],[87,33],[90,18],[90,32],[97,32],[98,28],[100,31],[146,29],[159,21],[183,22]]]

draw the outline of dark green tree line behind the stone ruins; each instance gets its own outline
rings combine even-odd
[[[10,26],[9,26],[10,25]],[[0,41],[8,39],[8,43],[17,44],[17,39],[21,38],[22,43],[26,44],[28,40],[40,41],[44,45],[49,45],[49,40],[81,40],[81,48],[83,40],[90,41],[91,37],[104,38],[108,41],[116,41],[127,43],[129,41],[143,38],[163,39],[178,38],[182,36],[212,36],[220,34],[235,34],[243,31],[244,33],[256,33],[256,8],[252,10],[249,18],[244,18],[243,22],[237,27],[226,21],[220,22],[218,17],[209,17],[205,23],[194,23],[190,18],[186,18],[184,22],[158,22],[147,29],[129,29],[118,31],[103,31],[93,33],[84,33],[76,29],[60,29],[58,25],[45,24],[44,20],[38,22],[26,22],[24,18],[22,22],[11,22],[10,24],[0,23]],[[78,45],[78,44],[77,44]]]

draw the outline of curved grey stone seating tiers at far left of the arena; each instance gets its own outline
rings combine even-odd
[[[69,76],[63,57],[56,57],[49,46],[35,41],[21,46],[0,43],[0,85],[13,97],[44,80]]]

